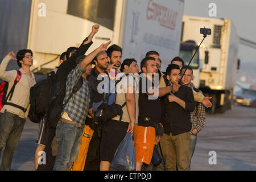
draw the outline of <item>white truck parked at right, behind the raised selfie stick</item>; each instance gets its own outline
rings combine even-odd
[[[203,39],[203,35],[200,34],[200,28],[203,27],[211,28],[212,35],[205,38],[191,63],[194,69],[193,82],[200,87],[205,96],[213,97],[212,113],[222,113],[232,107],[233,88],[240,65],[240,39],[229,19],[184,15],[180,56],[185,59],[185,63],[191,58],[186,55],[192,55]]]

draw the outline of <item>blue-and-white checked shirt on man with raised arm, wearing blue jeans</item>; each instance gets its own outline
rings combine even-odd
[[[69,73],[66,82],[66,94],[63,100],[63,104],[68,100],[68,97],[72,93],[74,86],[76,85],[77,81],[79,81],[82,73],[85,71],[86,68],[83,70],[79,64]],[[68,113],[69,118],[71,118],[73,122],[81,127],[84,127],[89,104],[90,94],[88,81],[84,80],[82,87],[75,94],[73,94],[61,115],[63,115],[64,112]]]

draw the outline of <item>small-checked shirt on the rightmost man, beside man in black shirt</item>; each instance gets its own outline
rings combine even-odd
[[[194,129],[196,129],[197,133],[199,133],[199,131],[201,131],[201,129],[204,127],[205,122],[205,108],[203,104],[199,103],[199,105],[195,107],[195,110],[191,112],[191,122],[192,128],[190,133],[192,134]]]

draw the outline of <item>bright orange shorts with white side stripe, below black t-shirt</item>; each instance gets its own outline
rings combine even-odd
[[[137,162],[150,164],[155,142],[155,128],[134,126],[134,148]]]

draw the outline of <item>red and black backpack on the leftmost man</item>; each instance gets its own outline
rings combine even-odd
[[[18,109],[21,109],[24,113],[26,113],[27,109],[25,109],[24,107],[7,102],[8,100],[11,101],[11,98],[13,97],[15,86],[20,81],[21,76],[22,76],[22,73],[17,70],[17,76],[14,80],[13,87],[11,88],[11,90],[8,94],[7,94],[7,91],[8,91],[9,82],[3,81],[1,83],[1,85],[0,85],[0,110],[2,109],[2,107],[4,105],[10,105],[10,106],[16,107]]]

